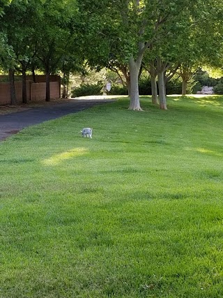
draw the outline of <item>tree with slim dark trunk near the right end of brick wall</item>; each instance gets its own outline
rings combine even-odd
[[[36,26],[36,56],[40,59],[46,75],[46,101],[50,101],[49,77],[56,71],[68,51],[73,34],[72,22],[75,22],[77,12],[73,0],[46,0],[40,12]]]

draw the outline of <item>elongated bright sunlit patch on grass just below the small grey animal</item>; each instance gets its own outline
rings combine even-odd
[[[70,158],[82,156],[86,154],[88,150],[83,147],[77,147],[74,149],[71,149],[66,152],[62,152],[61,154],[56,154],[50,158],[47,158],[43,161],[44,165],[58,165],[59,163],[62,163],[63,161],[66,161]]]

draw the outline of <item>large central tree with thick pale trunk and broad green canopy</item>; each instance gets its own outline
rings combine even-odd
[[[107,60],[112,57],[122,64],[128,63],[131,110],[141,110],[138,77],[146,50],[155,44],[156,49],[159,49],[157,56],[162,61],[167,61],[163,58],[166,56],[164,50],[167,48],[168,38],[168,43],[174,43],[174,35],[182,31],[181,27],[187,27],[185,20],[190,17],[191,10],[199,9],[198,3],[201,1],[84,1],[89,28],[94,32],[86,34],[86,39],[89,45],[89,40],[94,36],[94,55],[98,54],[97,49],[102,49],[103,44],[107,45],[107,50],[102,49],[99,57]]]

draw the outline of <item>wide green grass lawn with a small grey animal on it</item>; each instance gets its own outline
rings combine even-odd
[[[127,107],[0,143],[1,298],[223,297],[223,98]]]

